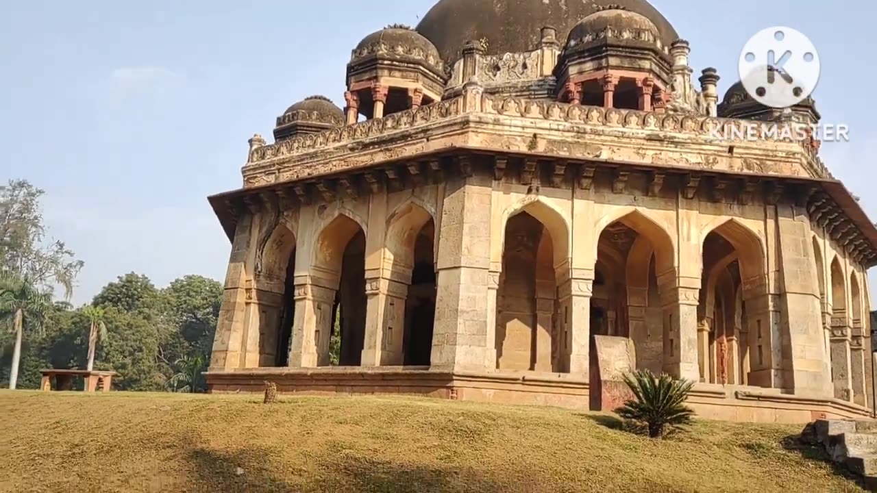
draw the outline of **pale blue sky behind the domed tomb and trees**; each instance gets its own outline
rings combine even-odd
[[[4,2],[0,180],[46,189],[50,234],[86,262],[75,304],[131,271],[160,286],[187,274],[221,281],[230,245],[205,197],[239,188],[246,140],[270,135],[305,96],[342,105],[353,46],[384,25],[416,25],[432,4]],[[877,220],[873,2],[652,4],[691,42],[695,76],[718,69],[722,93],[752,34],[772,25],[807,34],[823,63],[824,121],[851,128],[852,141],[826,144],[824,160]]]

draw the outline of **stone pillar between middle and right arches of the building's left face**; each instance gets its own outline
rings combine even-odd
[[[409,275],[410,277],[410,275]],[[366,280],[368,297],[363,367],[401,366],[408,284],[392,273]]]

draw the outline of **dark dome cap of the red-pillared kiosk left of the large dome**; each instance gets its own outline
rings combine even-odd
[[[363,38],[353,49],[351,62],[360,61],[371,55],[424,62],[427,66],[436,69],[439,74],[444,73],[445,64],[441,60],[439,50],[429,39],[406,25],[389,25]]]

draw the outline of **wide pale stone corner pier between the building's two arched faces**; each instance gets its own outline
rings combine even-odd
[[[485,370],[492,178],[467,176],[464,171],[463,176],[453,176],[446,182],[439,234],[433,369]]]

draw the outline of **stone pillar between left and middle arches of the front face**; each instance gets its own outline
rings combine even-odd
[[[588,378],[590,371],[591,296],[594,292],[593,277],[585,272],[575,272],[560,283],[561,354],[564,369],[568,373]]]

